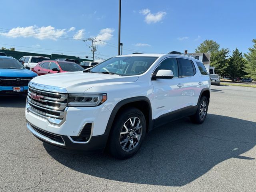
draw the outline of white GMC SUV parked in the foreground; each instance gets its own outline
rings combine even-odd
[[[27,128],[59,148],[106,148],[124,159],[139,150],[146,132],[155,127],[184,116],[204,122],[210,85],[204,65],[192,56],[117,56],[82,72],[32,79]]]

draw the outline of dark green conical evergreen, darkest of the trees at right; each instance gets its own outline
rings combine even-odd
[[[226,74],[231,77],[232,82],[236,77],[242,77],[246,75],[244,72],[244,66],[246,61],[242,55],[242,52],[239,52],[238,48],[233,50],[232,56],[228,59]]]

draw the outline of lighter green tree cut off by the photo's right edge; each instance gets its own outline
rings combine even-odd
[[[245,64],[244,71],[248,73],[251,78],[256,79],[256,39],[253,39],[254,45],[252,48],[248,48],[249,52],[244,54],[247,62]]]

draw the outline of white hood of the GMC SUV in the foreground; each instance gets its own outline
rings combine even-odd
[[[42,75],[30,82],[65,88],[69,93],[81,93],[94,86],[135,82],[136,80],[138,80],[138,76],[84,73],[80,71]]]

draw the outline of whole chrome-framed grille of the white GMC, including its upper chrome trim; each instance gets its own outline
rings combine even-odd
[[[50,92],[44,89],[43,85],[38,87],[28,86],[27,111],[47,119],[51,124],[61,125],[66,120],[68,94]],[[54,87],[51,87],[54,89]],[[56,88],[56,90],[63,88]]]

